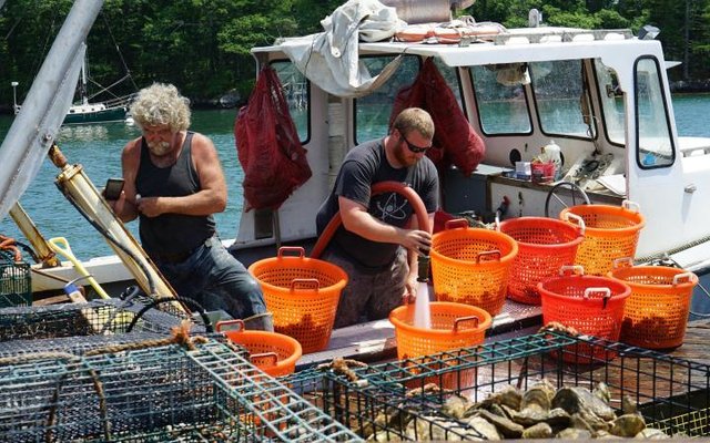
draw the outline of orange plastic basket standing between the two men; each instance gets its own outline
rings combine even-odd
[[[296,253],[287,256],[284,253]],[[338,266],[306,258],[301,247],[282,247],[275,258],[258,260],[248,271],[261,284],[274,330],[293,337],[303,353],[328,346],[347,275]]]

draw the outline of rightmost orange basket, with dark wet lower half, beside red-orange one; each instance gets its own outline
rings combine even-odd
[[[631,287],[620,340],[649,349],[681,346],[698,277],[679,268],[631,265],[631,259],[617,260],[609,272]]]

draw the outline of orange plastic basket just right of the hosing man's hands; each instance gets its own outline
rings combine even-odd
[[[438,301],[477,306],[491,316],[506,301],[508,274],[518,254],[510,236],[469,228],[465,219],[446,222],[432,238],[432,275]]]

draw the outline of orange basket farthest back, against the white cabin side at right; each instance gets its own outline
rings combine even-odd
[[[560,213],[569,222],[574,214],[585,222],[585,240],[577,249],[576,265],[585,272],[606,276],[617,258],[633,257],[641,228],[646,224],[636,203],[623,200],[622,206],[578,205]]]

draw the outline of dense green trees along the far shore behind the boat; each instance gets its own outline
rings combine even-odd
[[[115,94],[160,81],[174,83],[196,103],[231,90],[246,97],[255,78],[251,48],[320,32],[321,20],[343,2],[105,0],[87,39],[93,90],[130,73],[131,81],[112,87]],[[12,81],[20,83],[22,100],[71,6],[72,0],[6,0],[0,7],[1,107],[12,102]],[[635,34],[655,25],[666,59],[682,62],[669,71],[671,80],[710,79],[710,0],[477,0],[462,13],[515,28],[527,25],[531,8],[549,25],[629,28]]]

